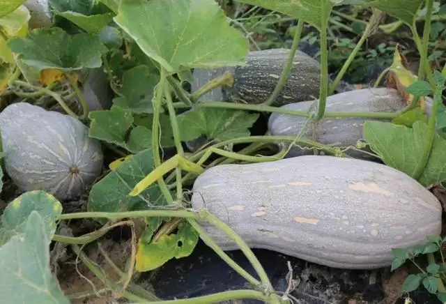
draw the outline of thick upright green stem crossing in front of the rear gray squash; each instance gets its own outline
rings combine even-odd
[[[330,17],[327,1],[321,1],[321,86],[319,87],[319,103],[318,109],[314,116],[316,121],[320,120],[324,116],[325,104],[328,97],[328,52],[327,52],[327,27],[328,17]]]

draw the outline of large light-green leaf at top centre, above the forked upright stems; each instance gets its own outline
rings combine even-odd
[[[248,53],[214,0],[123,0],[114,21],[171,73],[242,65]]]

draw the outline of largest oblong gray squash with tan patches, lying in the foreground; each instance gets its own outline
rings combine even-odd
[[[390,266],[392,248],[441,231],[435,196],[402,172],[367,160],[305,155],[217,165],[194,183],[192,207],[208,208],[251,248],[336,268]],[[212,225],[223,250],[237,245]]]

